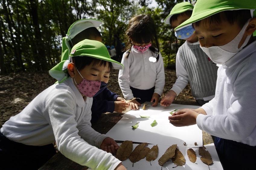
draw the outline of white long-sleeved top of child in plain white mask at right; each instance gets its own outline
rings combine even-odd
[[[256,146],[256,41],[218,65],[215,97],[203,105],[197,126],[207,133]]]

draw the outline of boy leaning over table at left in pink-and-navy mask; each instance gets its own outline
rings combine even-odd
[[[54,141],[64,156],[81,165],[126,169],[111,154],[118,148],[114,139],[94,131],[90,123],[92,97],[105,88],[112,67],[123,65],[110,58],[101,42],[76,44],[70,60],[49,71],[62,83],[44,90],[2,126],[1,169],[40,168],[56,153]]]

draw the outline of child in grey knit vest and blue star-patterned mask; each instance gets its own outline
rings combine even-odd
[[[189,2],[178,3],[166,17],[165,23],[171,24],[172,29],[176,28],[189,19],[193,8]],[[213,62],[209,62],[208,56],[201,50],[198,37],[194,32],[192,26],[175,32],[177,38],[186,41],[176,55],[177,80],[171,90],[162,98],[160,102],[162,106],[169,106],[188,82],[190,82],[191,93],[199,105],[202,106],[214,97],[218,67]]]

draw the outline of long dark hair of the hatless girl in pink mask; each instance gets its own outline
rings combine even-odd
[[[126,59],[130,54],[133,46],[131,39],[136,44],[149,44],[151,41],[152,46],[149,49],[158,54],[156,60],[159,59],[159,44],[157,40],[157,33],[155,30],[155,23],[149,15],[138,15],[130,19],[128,29],[126,31],[126,39],[128,40],[125,51],[129,50]]]

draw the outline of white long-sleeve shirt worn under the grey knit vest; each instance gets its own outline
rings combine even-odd
[[[188,41],[185,41],[185,43],[189,45],[198,45],[199,41],[195,43],[190,43]],[[203,53],[203,51],[202,51]],[[203,71],[203,70],[202,70]],[[180,53],[178,52],[176,54],[176,81],[174,85],[172,86],[171,90],[173,90],[177,96],[182,92],[182,90],[187,86],[187,83],[189,82],[189,75],[187,73],[187,69],[184,65],[184,62],[181,59]],[[206,96],[203,98],[195,97],[195,100],[202,99],[202,100],[211,100],[213,99],[214,95],[212,96]]]

